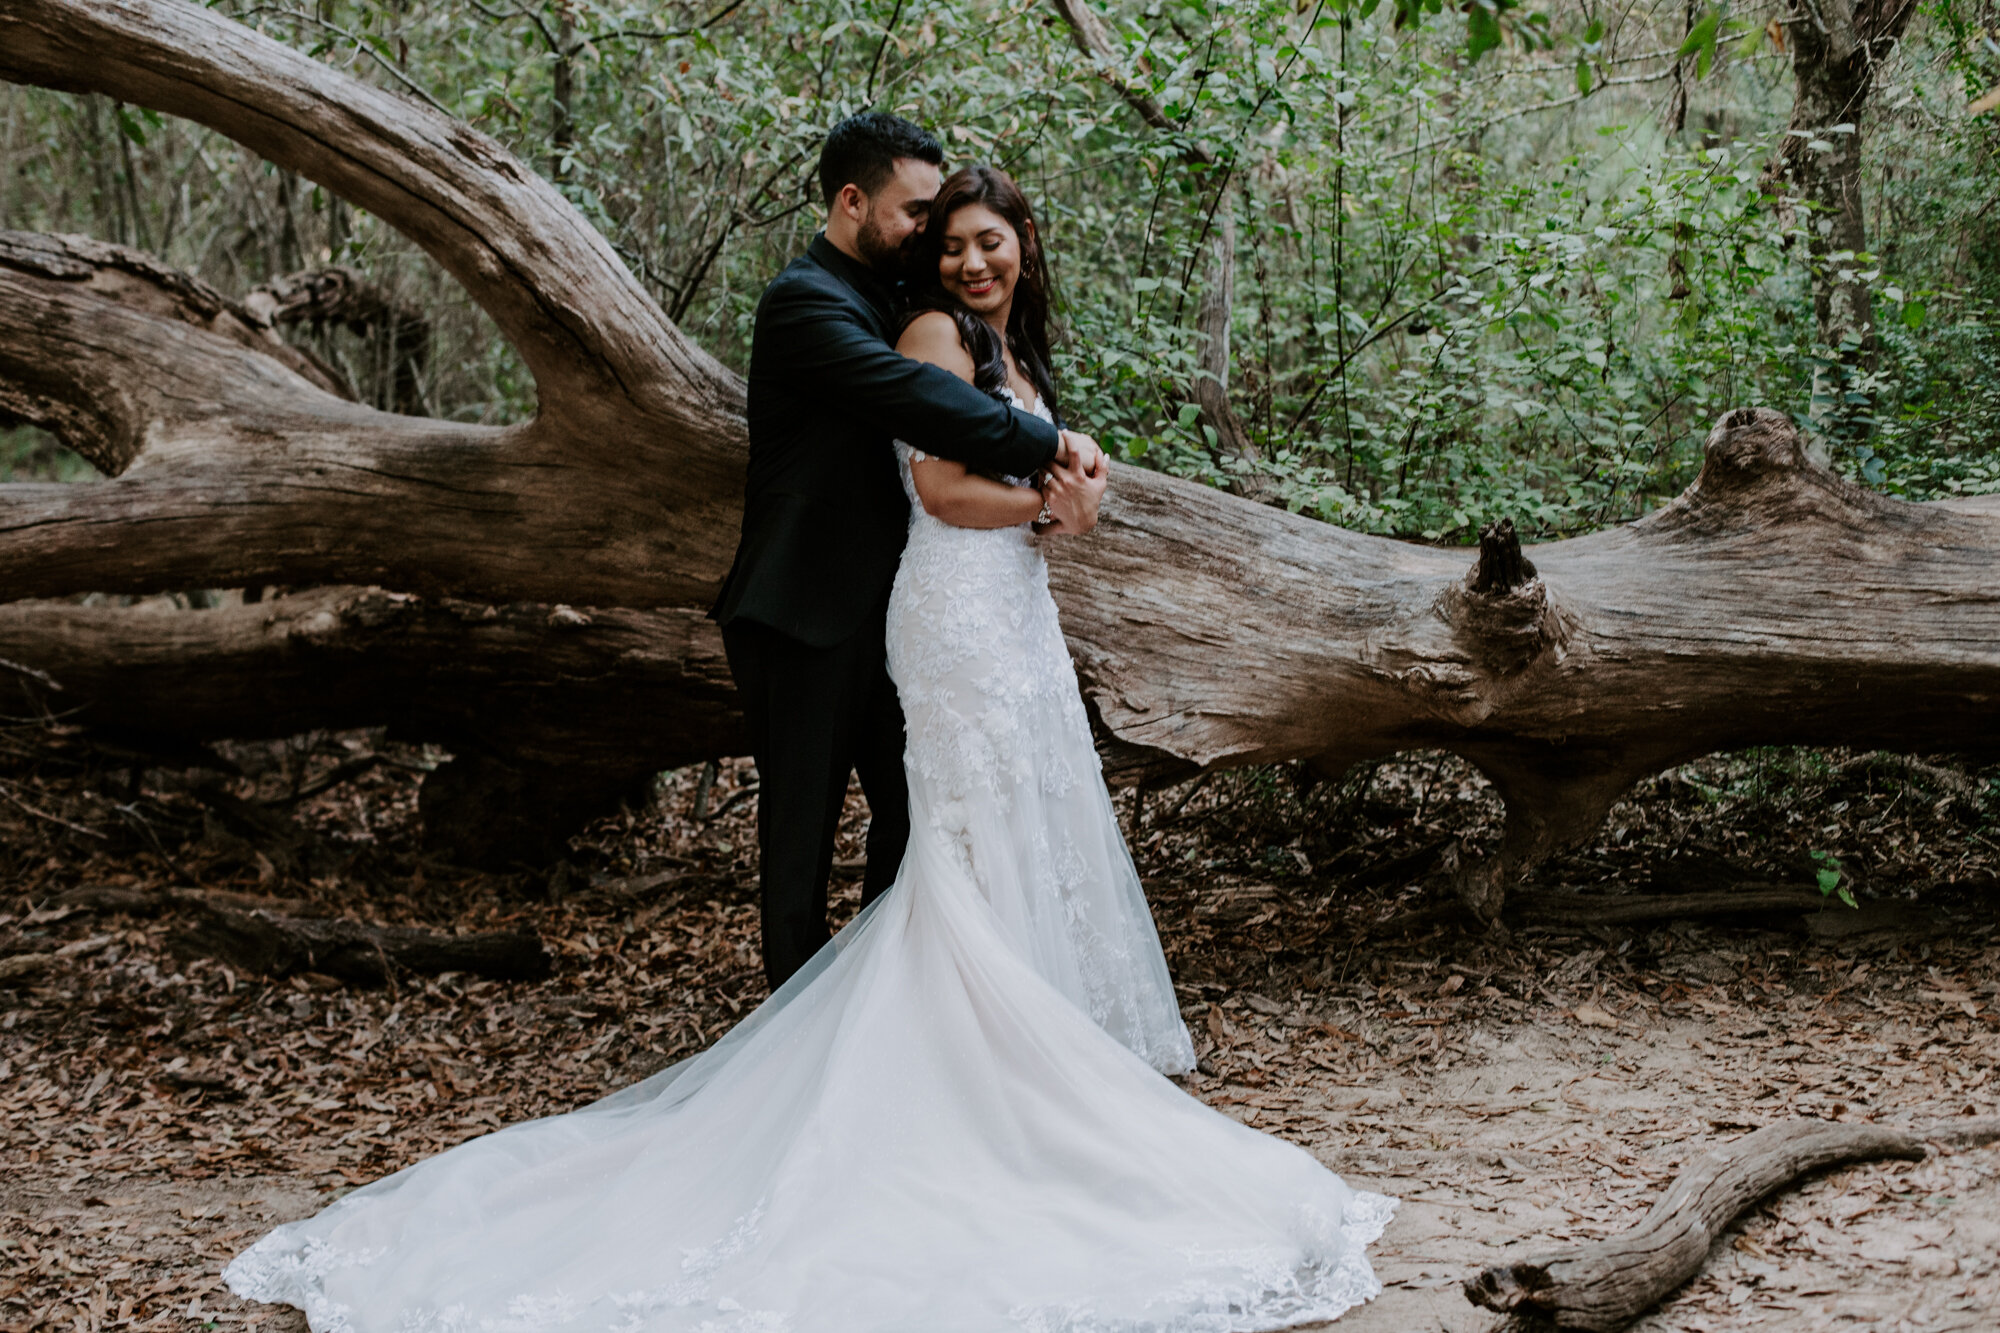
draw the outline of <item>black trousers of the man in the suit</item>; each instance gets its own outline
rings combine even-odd
[[[722,646],[756,755],[764,973],[776,989],[830,939],[826,881],[852,773],[870,815],[862,905],[896,881],[910,841],[902,703],[880,612],[830,648],[748,620],[724,626]]]

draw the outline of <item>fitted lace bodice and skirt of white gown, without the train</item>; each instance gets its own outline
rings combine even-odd
[[[1022,410],[1048,420],[1040,404]],[[898,440],[896,456],[910,538],[890,592],[888,669],[908,725],[912,813],[1002,917],[1030,923],[1022,947],[1038,971],[1156,1069],[1192,1069],[1138,873],[1104,837],[1116,821],[1034,526],[934,518],[910,474],[924,454]],[[1048,957],[1054,933],[1060,959]]]

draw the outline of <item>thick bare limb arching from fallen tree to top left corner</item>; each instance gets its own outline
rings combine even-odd
[[[198,4],[16,0],[0,78],[206,124],[420,244],[534,370],[544,410],[604,396],[666,420],[730,376],[632,280],[610,244],[500,144]]]

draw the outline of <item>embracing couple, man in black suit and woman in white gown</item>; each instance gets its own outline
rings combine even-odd
[[[238,1295],[322,1333],[1236,1333],[1380,1291],[1390,1199],[1164,1077],[1194,1051],[1040,552],[1108,468],[1058,428],[1028,200],[942,160],[894,116],[836,126],[826,232],[758,306],[716,618],[770,999],[278,1227]],[[864,907],[828,939],[854,771]]]

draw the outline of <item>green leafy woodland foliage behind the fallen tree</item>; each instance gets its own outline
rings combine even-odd
[[[1146,466],[1254,470],[1370,532],[1458,542],[1510,516],[1556,536],[1674,496],[1714,418],[1762,402],[1864,484],[2000,490],[1994,118],[1966,114],[2000,58],[1962,0],[1884,58],[1858,126],[1876,250],[1828,262],[1874,292],[1860,368],[1814,346],[1816,220],[1768,196],[1790,110],[1768,10],[1716,4],[1688,30],[1678,6],[1112,0],[1098,68],[1046,0],[216,2],[506,142],[738,368],[758,292],[818,226],[820,136],[880,106],[1028,188],[1066,412]],[[1662,118],[1672,88],[1684,128]],[[136,244],[226,292],[356,264],[436,314],[434,412],[534,410],[450,278],[310,182],[100,98],[0,90],[0,224]],[[1224,216],[1254,462],[1192,402]],[[364,348],[320,350],[380,396]],[[1856,404],[1864,432],[1826,426]]]

